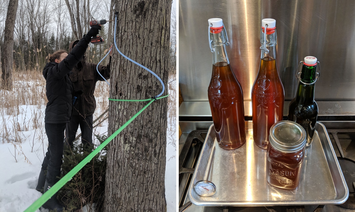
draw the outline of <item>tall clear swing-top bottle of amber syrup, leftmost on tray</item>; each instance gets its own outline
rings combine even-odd
[[[234,76],[225,45],[228,38],[220,18],[208,19],[210,48],[213,55],[208,100],[217,141],[223,149],[236,149],[246,141],[242,88]]]

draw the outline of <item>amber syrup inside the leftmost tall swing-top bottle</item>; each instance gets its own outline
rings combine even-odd
[[[243,93],[229,63],[213,65],[208,100],[220,147],[242,146],[246,141]]]

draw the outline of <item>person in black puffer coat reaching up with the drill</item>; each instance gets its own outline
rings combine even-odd
[[[38,191],[41,191],[44,187],[43,193],[58,182],[60,175],[64,130],[73,110],[74,90],[69,74],[81,61],[91,38],[99,34],[100,29],[101,26],[99,25],[93,26],[69,54],[64,50],[54,52],[50,57],[50,62],[43,69],[48,99],[44,118],[45,131],[48,137],[48,151],[43,159],[36,187]],[[56,209],[58,212],[63,211],[63,207],[59,205],[56,197],[56,194],[50,197],[43,207],[50,210]]]

